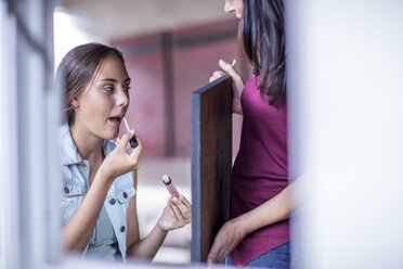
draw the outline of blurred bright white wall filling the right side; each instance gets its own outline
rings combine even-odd
[[[403,1],[288,8],[301,267],[402,268]]]

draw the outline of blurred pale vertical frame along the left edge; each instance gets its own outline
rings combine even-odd
[[[1,1],[1,268],[60,257],[52,1]],[[53,201],[53,202],[52,202]]]

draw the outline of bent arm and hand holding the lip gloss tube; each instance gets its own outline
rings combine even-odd
[[[136,175],[134,175],[133,181],[136,189]],[[157,225],[147,236],[140,240],[135,196],[130,198],[128,208],[127,254],[128,256],[152,259],[162,245],[169,230],[181,228],[191,222],[192,205],[182,195],[179,198],[170,198]]]

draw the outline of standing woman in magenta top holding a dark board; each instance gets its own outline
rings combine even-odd
[[[291,188],[287,174],[287,115],[284,7],[282,0],[226,0],[225,12],[239,20],[240,43],[255,76],[244,85],[234,67],[220,60],[233,80],[233,111],[242,114],[239,152],[231,181],[231,220],[217,234],[208,262],[226,257],[240,267],[290,267]]]

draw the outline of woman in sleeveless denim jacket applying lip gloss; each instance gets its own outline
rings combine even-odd
[[[63,59],[67,124],[61,128],[63,234],[65,247],[84,255],[153,258],[168,231],[192,218],[191,203],[170,197],[157,225],[140,239],[135,205],[142,152],[128,146],[133,131],[117,140],[129,106],[130,77],[121,53],[101,43],[76,47]]]

